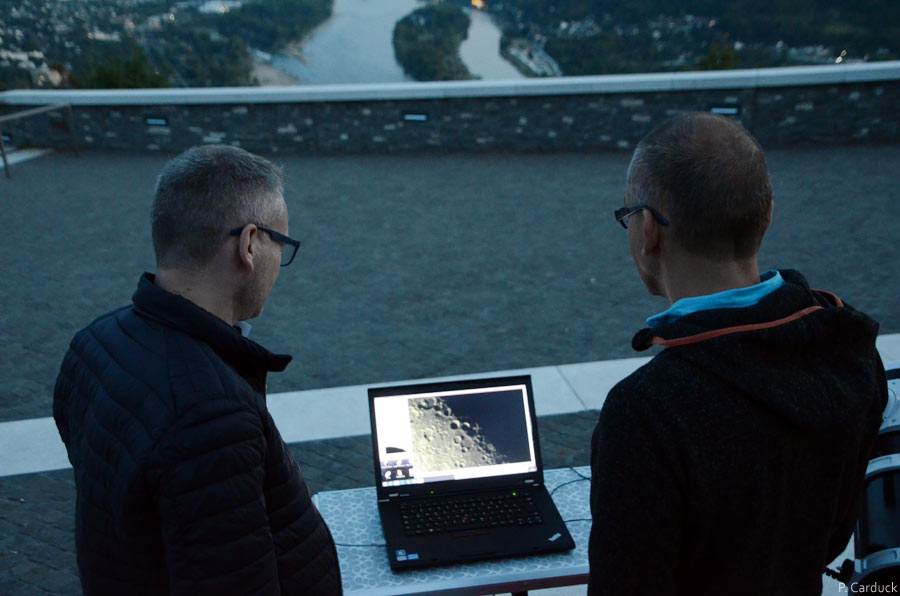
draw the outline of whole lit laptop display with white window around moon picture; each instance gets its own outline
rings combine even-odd
[[[370,391],[381,487],[537,471],[525,381]]]

